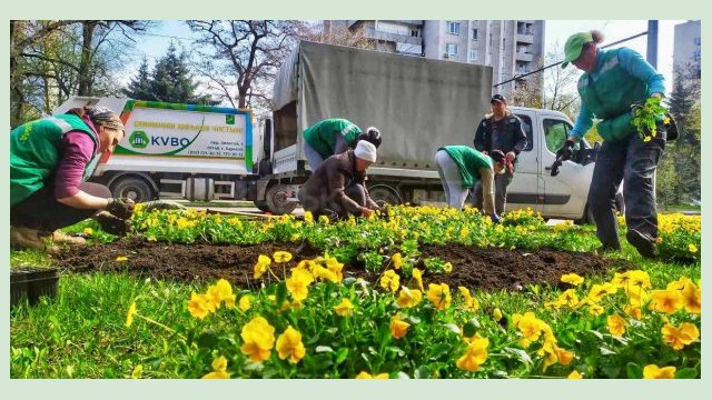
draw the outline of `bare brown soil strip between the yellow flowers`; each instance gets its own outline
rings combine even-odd
[[[253,279],[253,267],[259,254],[271,256],[277,250],[295,257],[285,264],[273,263],[273,271],[283,277],[301,259],[318,256],[308,246],[296,243],[260,243],[255,246],[176,244],[148,242],[139,238],[122,239],[112,243],[68,248],[55,258],[55,264],[73,272],[128,271],[140,277],[172,281],[214,282],[225,278],[238,288],[258,288],[263,280]],[[603,274],[610,269],[627,269],[624,260],[603,259],[593,253],[564,252],[541,249],[536,251],[510,249],[481,249],[462,244],[421,246],[423,257],[439,257],[453,264],[451,273],[424,274],[424,283],[444,282],[451,288],[520,289],[526,284],[560,286],[564,273],[580,276]],[[117,261],[127,257],[127,261]],[[423,269],[421,262],[418,268]],[[344,266],[344,277],[360,277],[370,282],[377,273],[364,270],[354,261]],[[264,282],[269,283],[268,274]]]

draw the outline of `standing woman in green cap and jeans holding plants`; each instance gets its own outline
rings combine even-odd
[[[652,258],[657,250],[655,169],[665,149],[668,130],[664,116],[660,116],[656,136],[644,141],[631,121],[633,107],[650,97],[663,97],[664,78],[634,50],[602,50],[596,46],[602,41],[599,31],[575,33],[566,40],[562,68],[573,63],[584,73],[578,79],[581,110],[557,157],[570,159],[574,144],[591,129],[593,119],[603,120],[599,133],[604,142],[589,190],[596,236],[604,250],[621,248],[614,199],[623,180],[625,237],[641,256]]]

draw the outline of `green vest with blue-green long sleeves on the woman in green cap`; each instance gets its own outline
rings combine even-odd
[[[643,103],[652,93],[664,93],[664,79],[641,54],[627,49],[599,50],[596,67],[578,79],[581,111],[572,134],[583,137],[593,123],[602,119],[599,133],[604,140],[616,141],[632,131],[631,106]]]

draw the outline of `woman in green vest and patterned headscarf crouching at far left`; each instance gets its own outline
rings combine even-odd
[[[44,239],[82,244],[58,229],[96,218],[110,233],[125,233],[134,201],[113,199],[106,186],[86,182],[105,151],[123,138],[111,110],[86,107],[21,124],[10,132],[10,243],[56,251]]]

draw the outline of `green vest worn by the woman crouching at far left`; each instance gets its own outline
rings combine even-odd
[[[85,180],[97,167],[99,138],[91,128],[73,114],[59,114],[30,121],[10,132],[10,207],[27,199],[44,186],[61,160],[60,147],[65,133],[81,131],[95,143],[95,157],[85,168]]]

